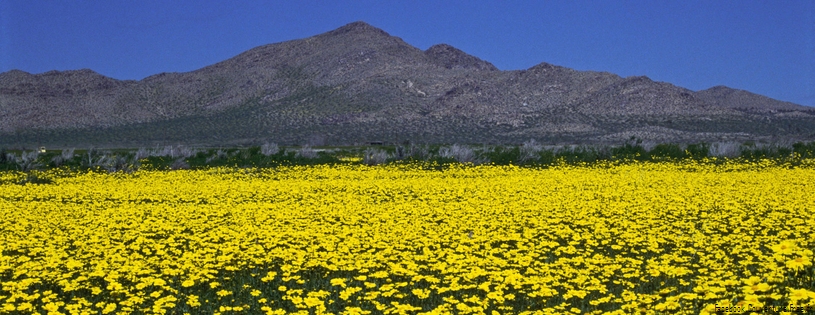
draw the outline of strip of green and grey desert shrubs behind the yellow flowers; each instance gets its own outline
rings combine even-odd
[[[706,160],[756,161],[771,159],[797,163],[815,158],[815,142],[792,144],[716,142],[712,144],[653,144],[632,138],[617,146],[543,145],[529,140],[517,146],[494,145],[375,145],[360,147],[280,146],[266,142],[245,148],[194,148],[164,146],[139,149],[64,149],[44,153],[37,150],[0,149],[0,170],[36,172],[51,168],[133,172],[138,169],[204,169],[209,167],[278,167],[287,165],[364,164],[432,162],[472,165],[552,166],[597,162]]]

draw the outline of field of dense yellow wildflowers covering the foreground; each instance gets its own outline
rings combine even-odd
[[[815,163],[0,173],[0,314],[815,305]]]

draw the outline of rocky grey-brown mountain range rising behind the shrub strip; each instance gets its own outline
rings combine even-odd
[[[0,145],[660,142],[815,138],[815,109],[547,63],[500,71],[364,22],[187,73],[0,74]]]

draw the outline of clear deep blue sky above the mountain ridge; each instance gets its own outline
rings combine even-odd
[[[185,72],[365,21],[501,70],[548,62],[815,106],[815,0],[0,0],[0,72]]]

